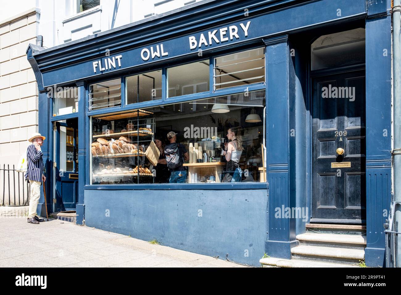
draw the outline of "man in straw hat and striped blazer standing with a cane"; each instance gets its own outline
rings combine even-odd
[[[28,139],[32,144],[28,146],[26,151],[28,170],[26,171],[25,179],[29,180],[30,183],[28,222],[32,224],[39,224],[39,222],[45,221],[36,216],[36,209],[38,208],[39,197],[41,195],[41,183],[46,180],[46,170],[43,164],[43,153],[41,150],[45,138],[45,136],[37,132],[32,134],[31,138]]]

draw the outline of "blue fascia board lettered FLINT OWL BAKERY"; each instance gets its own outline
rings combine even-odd
[[[274,39],[273,36],[279,37],[285,33],[288,33],[289,31],[302,31],[311,27],[327,26],[328,24],[339,24],[344,21],[365,18],[366,3],[364,0],[356,0],[354,2],[355,5],[351,7],[348,5],[347,0],[337,1],[338,2],[335,2],[334,0],[323,0],[318,2],[308,2],[308,4],[292,6],[290,8],[280,10],[276,13],[260,14],[257,16],[237,20],[236,22],[231,22],[229,24],[204,29],[203,31],[198,31],[196,33],[192,32],[188,35],[183,35],[174,39],[168,39],[164,41],[159,40],[158,43],[148,45],[146,47],[135,47],[134,49],[118,51],[117,54],[122,55],[122,60],[124,61],[124,65],[122,65],[121,68],[107,69],[106,71],[102,72],[100,70],[96,70],[93,67],[93,63],[97,62],[97,60],[84,59],[79,54],[77,54],[75,62],[68,65],[68,68],[62,66],[64,62],[60,62],[58,64],[58,67],[53,69],[51,69],[53,65],[43,64],[42,67],[39,68],[43,72],[45,85],[61,84],[66,83],[67,81],[75,80],[96,79],[98,77],[106,77],[107,75],[118,75],[119,73],[124,73],[124,71],[130,71],[140,67],[152,67],[155,63],[160,64],[163,61],[167,60],[172,62],[174,60],[182,60],[182,58],[186,57],[197,57],[198,49],[190,49],[190,40],[188,38],[192,36],[195,36],[195,38],[200,38],[202,34],[205,36],[209,35],[209,31],[220,30],[222,26],[225,28],[226,32],[225,42],[223,44],[221,44],[221,42],[212,42],[213,45],[202,45],[201,47],[199,47],[199,49],[202,49],[205,54],[217,51],[220,51],[221,54],[224,54],[225,50],[228,50],[229,48],[230,50],[232,50],[234,47],[240,46],[244,43],[251,44],[251,42],[253,42],[254,44],[257,44],[257,42],[259,42],[263,44],[262,38],[264,37]],[[338,6],[342,7],[343,9],[342,16],[333,16],[330,11],[335,11]],[[326,13],[318,15],[314,14],[314,11],[320,11],[324,9],[327,10]],[[314,20],[312,20],[312,23],[309,18],[303,17],[303,15],[307,11],[309,11],[310,14],[314,14],[315,16]],[[291,18],[293,21],[283,22],[286,17]],[[241,24],[247,26],[249,22],[251,22],[252,24],[249,28],[247,28],[246,33],[245,30],[242,30],[241,32],[241,30],[238,29],[237,33],[239,37],[232,37],[230,31],[232,27],[239,28],[241,27]],[[228,39],[227,37],[229,35],[230,38]],[[157,57],[154,57],[154,60],[143,58],[142,52],[144,49],[155,49],[159,46],[161,47],[162,44],[164,45],[164,49],[166,52],[165,56],[159,54]],[[185,47],[182,46],[182,44],[187,44],[188,46]],[[107,57],[107,59],[108,58],[109,57]]]

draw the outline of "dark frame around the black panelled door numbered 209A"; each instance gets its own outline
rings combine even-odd
[[[309,183],[309,195],[310,195],[310,199],[309,199],[309,222],[310,223],[336,223],[336,224],[366,224],[366,219],[365,220],[353,220],[351,222],[347,222],[346,220],[342,221],[341,220],[333,220],[333,219],[326,219],[326,220],[320,220],[320,219],[316,219],[314,218],[314,220],[312,221],[312,208],[313,208],[313,195],[314,195],[314,191],[313,191],[313,175],[312,175],[312,171],[313,171],[313,79],[318,78],[318,77],[322,77],[322,76],[326,76],[326,75],[334,75],[334,74],[341,74],[341,73],[352,73],[355,71],[365,71],[365,77],[366,77],[366,65],[365,63],[361,63],[358,65],[351,65],[351,66],[345,66],[345,67],[338,67],[338,68],[332,68],[332,69],[320,69],[320,70],[314,70],[312,71],[310,69],[310,60],[309,60],[309,78],[308,78],[308,100],[309,100],[309,134],[310,134],[310,138],[309,138],[309,153],[308,153],[308,157],[310,159],[309,162],[309,173],[310,173],[310,183]],[[365,90],[365,94],[366,94],[366,90]],[[366,110],[366,100],[365,100],[365,110]],[[366,116],[365,116],[365,126],[366,126]],[[365,127],[366,128],[366,127]],[[366,133],[367,136],[367,133]],[[365,151],[366,154],[366,151]],[[366,175],[366,167],[365,167],[365,175]],[[366,184],[367,185],[367,182]],[[365,201],[366,201],[366,197],[367,194],[365,194]],[[365,216],[366,216],[366,208],[362,209],[365,210]],[[363,215],[364,216],[364,215]]]

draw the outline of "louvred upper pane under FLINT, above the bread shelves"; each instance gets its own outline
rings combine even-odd
[[[121,106],[121,79],[92,84],[89,101],[89,110]]]

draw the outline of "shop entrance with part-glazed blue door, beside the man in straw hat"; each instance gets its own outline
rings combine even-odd
[[[55,122],[55,212],[78,203],[78,118]]]

